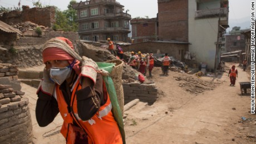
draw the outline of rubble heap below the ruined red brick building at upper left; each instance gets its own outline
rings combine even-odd
[[[15,25],[11,24],[11,26],[14,27],[14,28],[19,29],[19,31],[21,31],[21,32],[33,31],[37,27],[40,27],[41,31],[46,31],[47,29],[52,30],[48,27],[39,26],[38,24],[32,23],[32,22],[23,22],[23,23],[18,23],[18,24],[15,24]]]

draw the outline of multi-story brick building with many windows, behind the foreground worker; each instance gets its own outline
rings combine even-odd
[[[77,10],[80,39],[127,41],[131,15],[116,0],[91,0],[73,5]]]

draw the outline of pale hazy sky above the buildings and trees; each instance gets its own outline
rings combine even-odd
[[[27,5],[33,7],[32,2],[35,0],[21,0],[21,5]],[[36,0],[37,1],[37,0]],[[189,0],[195,1],[195,0]],[[239,24],[242,21],[250,21],[250,2],[256,0],[229,0],[229,19],[233,19],[232,25]],[[18,7],[19,0],[0,0],[0,6],[3,7]],[[67,9],[70,0],[40,0],[44,5],[54,5],[61,10]],[[77,0],[77,2],[80,2]],[[129,9],[129,14],[132,18],[156,17],[158,11],[157,0],[118,0],[123,6],[125,11]],[[247,20],[248,19],[248,20]]]

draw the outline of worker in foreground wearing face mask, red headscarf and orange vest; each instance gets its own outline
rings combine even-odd
[[[68,144],[125,143],[97,64],[80,57],[63,37],[47,41],[42,57],[46,66],[37,90],[38,125],[49,125],[60,112],[60,132]]]

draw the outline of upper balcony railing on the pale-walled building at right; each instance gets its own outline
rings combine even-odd
[[[227,16],[228,8],[204,9],[195,12],[195,18]]]

